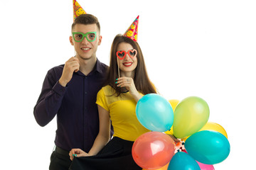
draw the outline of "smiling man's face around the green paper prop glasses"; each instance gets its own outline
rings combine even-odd
[[[76,42],[73,36],[70,36],[70,43],[74,45],[77,57],[82,60],[89,60],[92,57],[96,57],[97,46],[100,45],[102,37],[99,33],[96,24],[84,25],[77,24],[72,30],[73,33],[96,32],[96,38],[92,42],[88,41],[87,38],[83,38],[82,41]]]

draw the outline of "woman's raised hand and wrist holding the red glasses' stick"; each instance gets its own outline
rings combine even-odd
[[[125,87],[134,97],[135,101],[139,101],[139,99],[142,98],[142,95],[137,91],[134,80],[131,77],[119,77],[116,84],[119,87]]]

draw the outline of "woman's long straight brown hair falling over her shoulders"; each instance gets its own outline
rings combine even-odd
[[[124,37],[121,34],[116,35],[116,37],[112,42],[112,46],[110,50],[110,67],[107,72],[107,81],[105,85],[112,86],[112,88],[115,89],[117,96],[119,96],[122,93],[121,88],[117,87],[117,84],[115,84],[115,81],[118,78],[116,52],[117,52],[117,47],[121,42],[129,43],[138,52],[137,54],[138,63],[135,69],[135,76],[134,76],[134,84],[136,86],[137,91],[141,92],[144,95],[152,94],[152,93],[156,94],[156,89],[154,88],[154,85],[151,84],[151,81],[149,80],[148,74],[146,72],[144,57],[142,55],[142,50],[139,47],[139,44],[130,38]]]

